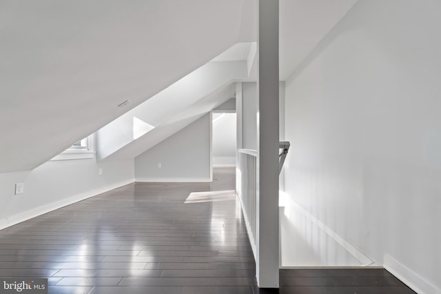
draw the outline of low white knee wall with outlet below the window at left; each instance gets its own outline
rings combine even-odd
[[[99,169],[103,175],[99,175]],[[134,180],[134,160],[51,160],[32,171],[0,174],[0,229]],[[23,182],[24,193],[14,195]]]

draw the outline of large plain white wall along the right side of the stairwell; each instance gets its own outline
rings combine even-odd
[[[441,293],[440,1],[359,0],[286,83],[286,192]]]

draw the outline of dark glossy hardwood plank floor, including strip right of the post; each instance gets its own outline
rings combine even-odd
[[[212,183],[135,183],[0,231],[0,277],[48,277],[49,293],[256,294],[239,202]],[[413,293],[382,269],[282,270],[280,293]]]

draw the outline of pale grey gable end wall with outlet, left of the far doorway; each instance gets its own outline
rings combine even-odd
[[[136,181],[209,182],[209,114],[135,158]],[[158,167],[161,163],[161,168]]]

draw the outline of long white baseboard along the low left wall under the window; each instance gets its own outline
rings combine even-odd
[[[21,213],[14,214],[13,216],[10,216],[8,218],[3,218],[0,220],[0,230],[6,229],[8,227],[13,226],[14,224],[19,224],[20,222],[24,222],[25,220],[30,220],[31,218],[36,218],[37,216],[41,216],[45,213],[48,213],[50,211],[54,211],[56,209],[60,209],[61,207],[68,206],[70,204],[74,204],[76,202],[79,202],[81,200],[85,200],[88,198],[91,198],[93,196],[99,195],[101,193],[131,184],[134,182],[134,179],[131,180],[125,180],[122,182],[116,182],[112,185],[107,185],[105,187],[101,187],[99,189],[93,189],[84,193],[80,193],[76,196],[72,196],[69,198],[65,198],[56,202],[52,202],[49,204],[45,204],[41,207],[36,207],[34,209],[30,209],[27,211],[23,211]]]

